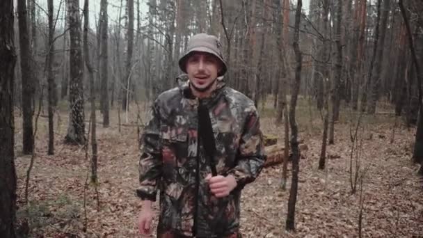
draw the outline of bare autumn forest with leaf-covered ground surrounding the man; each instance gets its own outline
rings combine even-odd
[[[243,237],[423,237],[421,0],[0,1],[0,237],[140,237],[141,135],[197,33],[260,115]]]

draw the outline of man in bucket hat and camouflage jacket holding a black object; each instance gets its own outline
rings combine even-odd
[[[157,97],[142,137],[139,231],[150,234],[160,190],[157,237],[241,237],[241,189],[265,158],[257,110],[225,86],[227,66],[215,36],[194,35],[179,68],[189,80]]]

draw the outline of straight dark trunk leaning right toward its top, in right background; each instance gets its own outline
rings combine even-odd
[[[376,111],[376,101],[378,100],[378,88],[381,86],[381,71],[383,63],[383,52],[385,47],[385,35],[388,27],[388,16],[390,12],[390,0],[383,0],[383,13],[381,15],[381,24],[378,27],[381,30],[380,41],[378,41],[378,47],[376,51],[376,61],[374,65],[374,73],[372,75],[373,79],[369,85],[369,105],[368,112],[375,113]]]

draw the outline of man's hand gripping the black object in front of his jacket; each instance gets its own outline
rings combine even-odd
[[[210,191],[212,191],[216,198],[228,196],[229,193],[237,187],[237,180],[235,180],[232,175],[226,177],[217,175],[212,177],[212,175],[209,174],[206,177],[206,181],[209,183]]]

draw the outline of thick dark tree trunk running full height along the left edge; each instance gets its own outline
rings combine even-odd
[[[0,8],[0,237],[15,238],[16,171],[13,85],[16,63],[13,45],[13,0]]]

